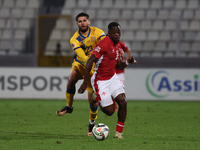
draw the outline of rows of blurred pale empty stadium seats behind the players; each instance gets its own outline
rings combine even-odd
[[[50,3],[52,3],[50,5]],[[60,3],[60,4],[58,4]],[[35,32],[38,14],[90,15],[91,25],[107,32],[107,24],[118,21],[121,40],[137,58],[199,58],[200,0],[0,0],[0,55],[36,53]],[[59,41],[70,51],[67,22],[57,20],[46,41],[45,54]],[[71,32],[77,30],[73,20]],[[34,29],[33,29],[34,27]],[[35,37],[35,38],[30,38]],[[11,42],[14,40],[14,42]],[[15,44],[8,44],[8,43]],[[27,46],[28,45],[28,46]],[[55,50],[55,49],[54,49]],[[63,54],[66,54],[64,51]]]

